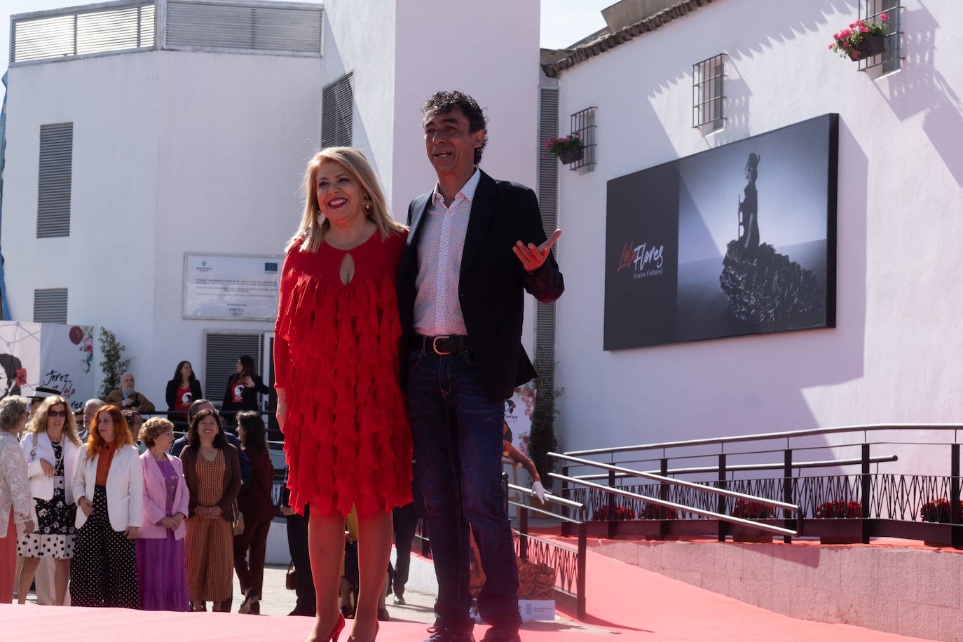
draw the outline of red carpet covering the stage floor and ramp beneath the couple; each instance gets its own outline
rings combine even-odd
[[[526,642],[618,642],[619,640],[739,640],[770,642],[912,640],[893,633],[823,624],[772,613],[636,566],[588,552],[586,624],[594,631],[565,631],[557,623],[530,623]],[[572,617],[569,615],[569,617]],[[574,619],[574,618],[573,618]],[[0,604],[0,640],[44,639],[113,642],[176,640],[303,640],[312,620],[231,613],[164,613]],[[344,642],[351,623],[342,633]],[[481,641],[485,626],[475,629]],[[418,642],[424,625],[382,623],[379,642]]]

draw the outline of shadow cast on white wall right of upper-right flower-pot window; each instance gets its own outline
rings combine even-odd
[[[906,56],[902,70],[887,77],[888,94],[879,82],[876,89],[900,120],[924,115],[926,138],[950,169],[953,179],[963,186],[963,147],[959,141],[947,136],[948,132],[963,131],[963,101],[935,68],[937,52],[934,41],[940,24],[920,3],[919,9],[903,10],[900,26],[903,31],[902,51]]]

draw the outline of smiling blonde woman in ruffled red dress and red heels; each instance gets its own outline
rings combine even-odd
[[[411,433],[399,387],[396,277],[407,228],[391,218],[374,170],[351,147],[308,163],[298,232],[287,248],[274,327],[277,421],[290,504],[310,504],[318,611],[309,639],[337,640],[345,517],[358,516],[360,586],[351,640],[377,635],[391,510],[411,501]]]

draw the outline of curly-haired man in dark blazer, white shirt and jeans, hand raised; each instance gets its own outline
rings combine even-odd
[[[411,201],[398,276],[403,383],[438,578],[426,642],[470,642],[469,525],[486,580],[489,642],[518,640],[518,571],[502,490],[503,402],[535,376],[521,346],[524,293],[564,290],[534,193],[478,168],[487,136],[478,103],[438,91],[422,108],[438,182]]]

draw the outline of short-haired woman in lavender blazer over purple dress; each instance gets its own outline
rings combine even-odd
[[[174,425],[148,419],[140,439],[143,464],[143,526],[137,533],[137,578],[144,610],[187,611],[190,603],[184,565],[187,484],[181,461],[168,454]]]

